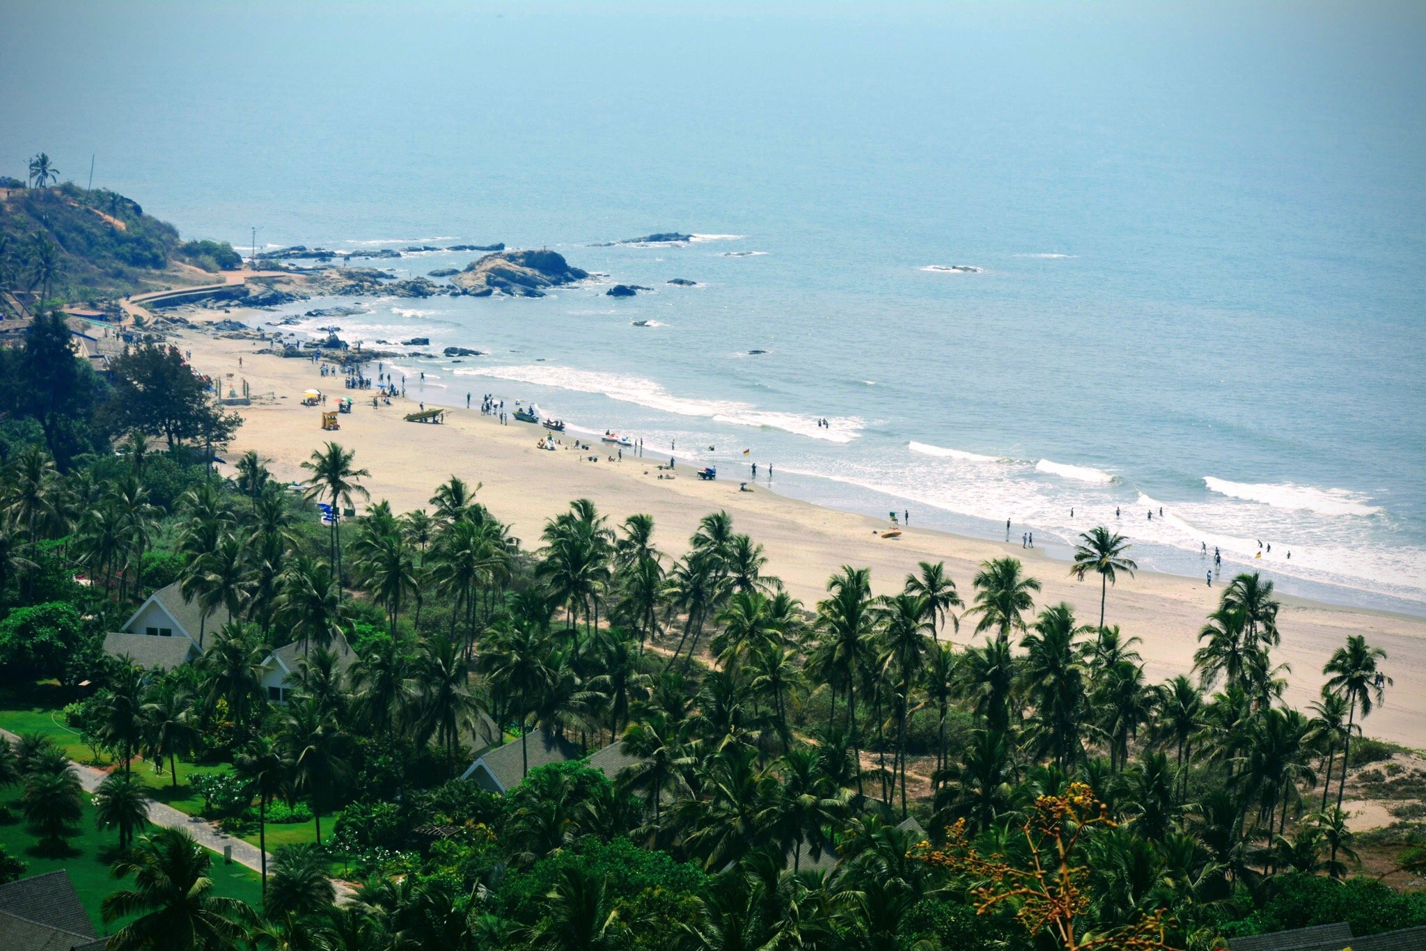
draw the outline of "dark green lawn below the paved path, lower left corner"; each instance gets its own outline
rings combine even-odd
[[[39,850],[37,840],[26,828],[23,814],[20,813],[20,793],[17,788],[0,793],[0,811],[6,808],[9,808],[9,820],[0,818],[0,845],[4,845],[4,850],[10,855],[30,864],[30,868],[24,874],[37,875],[63,868],[70,874],[70,881],[74,883],[74,890],[78,893],[80,901],[84,903],[84,910],[88,911],[98,932],[110,934],[117,930],[121,922],[116,922],[110,928],[104,927],[100,917],[100,901],[111,891],[131,887],[133,878],[114,880],[108,874],[108,863],[103,855],[117,844],[118,833],[100,831],[94,826],[94,807],[90,804],[88,797],[84,800],[84,818],[74,827],[77,834],[67,840],[68,850],[63,855],[48,855]],[[262,890],[255,871],[237,863],[224,865],[222,855],[212,854],[212,868],[208,874],[214,881],[214,891],[217,894],[241,898],[252,907],[260,907]]]

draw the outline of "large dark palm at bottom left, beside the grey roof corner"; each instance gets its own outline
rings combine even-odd
[[[257,927],[257,914],[238,898],[212,893],[212,858],[188,833],[160,828],[114,863],[116,878],[134,875],[134,888],[110,893],[100,904],[104,922],[140,915],[110,940],[111,951],[238,948]]]

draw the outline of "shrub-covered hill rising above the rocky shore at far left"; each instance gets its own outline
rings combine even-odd
[[[133,198],[58,183],[43,154],[26,181],[0,178],[0,291],[86,301],[197,284],[241,262],[227,242],[183,241]]]

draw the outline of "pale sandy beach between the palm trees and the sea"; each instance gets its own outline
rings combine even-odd
[[[185,315],[195,322],[224,317],[207,311]],[[268,319],[262,311],[234,309],[230,317],[250,325]],[[434,489],[451,475],[482,483],[479,500],[508,522],[526,548],[538,545],[545,519],[576,498],[593,499],[612,523],[635,512],[653,515],[657,543],[670,555],[683,553],[699,518],[727,509],[737,530],[766,546],[769,570],[807,606],[823,596],[829,575],[841,565],[870,566],[874,590],[884,593],[898,589],[920,560],[944,560],[963,597],[970,600],[978,563],[1008,553],[1022,559],[1028,572],[1044,585],[1037,609],[1065,600],[1082,620],[1098,616],[1099,585],[1092,579],[1077,582],[1067,562],[1021,549],[1018,529],[1008,545],[914,526],[897,539],[881,539],[876,529],[884,523],[781,496],[776,492],[776,480],[773,490],[764,479],[753,492],[740,492],[737,478],[703,482],[694,478],[692,466],[682,465],[677,478],[659,479],[657,463],[667,462],[667,456],[653,458],[656,451],[652,448],[645,459],[632,458],[626,451],[622,462],[607,462],[610,446],[597,443],[590,452],[539,451],[536,442],[543,429],[513,421],[502,426],[482,416],[479,389],[476,408],[449,411],[443,425],[408,423],[405,413],[415,412],[424,395],[418,381],[408,379],[405,401],[394,399],[391,406],[374,409],[368,391],[362,391],[366,394],[364,403],[362,394],[347,391],[339,375],[321,376],[309,361],[255,354],[264,346],[255,341],[217,339],[191,331],[180,336],[181,346],[193,351],[193,364],[200,372],[221,376],[224,392],[230,386],[241,391],[244,379],[251,388],[254,403],[237,408],[245,422],[227,458],[255,449],[281,479],[301,479],[299,463],[324,441],[332,439],[355,449],[356,465],[371,471],[365,485],[372,500],[388,499],[398,512],[429,508]],[[472,386],[479,385],[472,381]],[[308,388],[328,394],[328,408],[335,408],[335,398],[354,398],[352,412],[339,416],[339,432],[322,432],[318,409],[301,405],[301,394]],[[512,395],[518,395],[516,389],[505,386]],[[429,392],[436,394],[435,389]],[[506,409],[512,408],[508,399]],[[573,436],[565,436],[563,442],[569,446]],[[600,461],[588,462],[588,455],[597,455]],[[1139,572],[1132,579],[1121,577],[1111,587],[1107,623],[1119,624],[1127,634],[1142,639],[1139,652],[1147,673],[1152,680],[1162,680],[1191,669],[1198,630],[1221,590],[1219,586],[1206,587],[1202,577]],[[1386,703],[1366,720],[1366,734],[1412,747],[1426,746],[1426,619],[1293,597],[1282,602],[1282,646],[1273,656],[1292,667],[1288,701],[1306,709],[1318,696],[1322,664],[1330,653],[1348,634],[1366,634],[1369,643],[1387,652],[1385,670],[1395,679]],[[967,624],[953,637],[964,644],[970,634],[971,624]]]

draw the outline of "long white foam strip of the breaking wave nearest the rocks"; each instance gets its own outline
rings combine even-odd
[[[851,442],[861,433],[864,425],[861,419],[848,416],[831,418],[829,419],[830,426],[819,426],[817,416],[759,409],[752,403],[732,399],[689,399],[676,396],[655,381],[642,376],[620,376],[619,374],[572,366],[472,366],[455,372],[462,376],[493,376],[518,384],[599,394],[609,399],[637,403],[680,416],[704,416],[714,422],[739,426],[767,426],[824,442]]]

